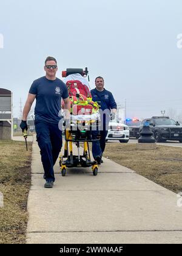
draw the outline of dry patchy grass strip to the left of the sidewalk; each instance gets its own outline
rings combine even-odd
[[[32,143],[0,140],[0,243],[25,243]],[[2,205],[1,205],[2,206]]]

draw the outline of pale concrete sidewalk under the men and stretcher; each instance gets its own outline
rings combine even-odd
[[[91,168],[70,168],[44,188],[39,148],[33,142],[27,243],[182,243],[177,194],[104,158]]]

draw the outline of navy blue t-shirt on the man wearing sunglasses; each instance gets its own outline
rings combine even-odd
[[[57,77],[49,80],[43,76],[33,81],[29,93],[36,94],[35,119],[59,123],[61,98],[69,97],[66,84]]]

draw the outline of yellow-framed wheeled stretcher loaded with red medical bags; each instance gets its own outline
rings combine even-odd
[[[97,130],[99,134],[99,105],[92,101],[85,78],[87,74],[87,68],[86,70],[67,69],[67,71],[62,71],[62,77],[66,77],[64,82],[67,85],[71,102],[70,124],[64,129],[64,154],[59,155],[62,176],[66,175],[67,168],[73,167],[92,167],[93,176],[98,174],[98,163],[95,160],[92,161],[90,157],[89,142],[93,141],[92,130]],[[73,80],[74,76],[75,80]],[[99,140],[99,135],[94,139],[94,141],[96,140]],[[73,154],[73,143],[77,148],[76,155]]]

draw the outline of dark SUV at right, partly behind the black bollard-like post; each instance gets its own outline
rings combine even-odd
[[[149,122],[150,129],[157,142],[166,140],[182,142],[182,126],[169,116],[152,116],[152,118],[144,119],[140,126],[140,132],[146,122]]]

